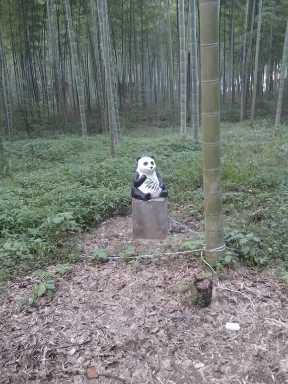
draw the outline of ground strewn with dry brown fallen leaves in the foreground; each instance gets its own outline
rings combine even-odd
[[[166,242],[136,244],[138,254],[168,248],[173,232],[191,237],[170,225]],[[83,261],[57,278],[53,300],[43,297],[37,307],[19,307],[37,283],[33,275],[7,286],[0,297],[1,384],[288,383],[287,291],[273,271],[243,268],[220,280],[245,293],[256,311],[216,282],[210,307],[201,309],[185,290],[203,268],[197,254],[138,266],[88,257],[103,247],[117,255],[129,244],[131,217],[103,223],[81,239]],[[227,330],[226,321],[240,330]]]

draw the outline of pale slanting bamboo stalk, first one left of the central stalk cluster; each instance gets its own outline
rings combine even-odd
[[[77,92],[78,92],[78,101],[79,101],[79,109],[80,109],[80,117],[81,117],[81,125],[82,125],[83,142],[84,142],[84,146],[86,147],[86,146],[88,146],[88,136],[87,136],[85,105],[84,105],[83,84],[82,84],[82,80],[80,77],[78,55],[77,55],[77,49],[76,49],[75,40],[74,40],[70,0],[65,0],[65,4],[66,4],[66,13],[67,13],[71,52],[72,52],[74,72],[75,72]]]

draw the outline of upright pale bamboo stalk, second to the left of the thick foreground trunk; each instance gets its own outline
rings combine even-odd
[[[181,136],[186,135],[186,52],[184,0],[179,0]]]

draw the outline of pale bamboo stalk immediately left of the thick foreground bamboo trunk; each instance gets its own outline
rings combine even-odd
[[[197,39],[196,39],[196,9],[195,0],[190,0],[190,65],[192,82],[192,108],[191,121],[194,132],[194,140],[198,143],[199,131],[199,92],[198,92],[198,63],[197,63]]]

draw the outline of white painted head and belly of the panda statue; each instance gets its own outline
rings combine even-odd
[[[144,163],[147,163],[144,165]],[[139,176],[146,175],[147,178],[144,183],[138,187],[143,193],[150,193],[151,198],[160,196],[162,188],[159,186],[159,180],[156,174],[156,164],[152,157],[141,157],[138,160],[138,166],[136,172],[139,173]]]

